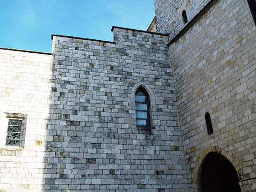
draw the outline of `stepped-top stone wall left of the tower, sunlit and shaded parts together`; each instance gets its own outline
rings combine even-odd
[[[0,190],[188,188],[168,36],[117,27],[113,35],[53,35],[53,55],[1,52]],[[150,96],[148,130],[135,125],[139,86]],[[4,146],[6,113],[26,115],[20,148]]]

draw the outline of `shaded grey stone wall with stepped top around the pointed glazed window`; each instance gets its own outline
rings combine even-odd
[[[113,27],[114,42],[53,35],[47,191],[185,191],[168,36]],[[150,95],[152,128],[135,125]]]

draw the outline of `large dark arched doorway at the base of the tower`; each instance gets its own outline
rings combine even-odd
[[[241,192],[235,167],[220,153],[205,157],[200,176],[200,192]]]

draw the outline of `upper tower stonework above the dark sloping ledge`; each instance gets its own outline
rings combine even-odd
[[[186,25],[182,11],[187,13],[188,22],[211,0],[154,0],[156,31],[169,34],[170,40]]]

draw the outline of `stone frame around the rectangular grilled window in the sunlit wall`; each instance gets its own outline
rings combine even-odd
[[[24,148],[25,146],[25,138],[26,138],[26,126],[27,126],[27,114],[21,114],[21,113],[4,113],[7,121],[7,128],[5,135],[7,136],[7,129],[9,125],[9,119],[19,119],[22,120],[21,123],[21,130],[20,130],[20,143],[19,145],[6,145],[6,139],[4,141],[5,147],[16,147],[16,148]],[[6,138],[6,137],[5,137]]]

